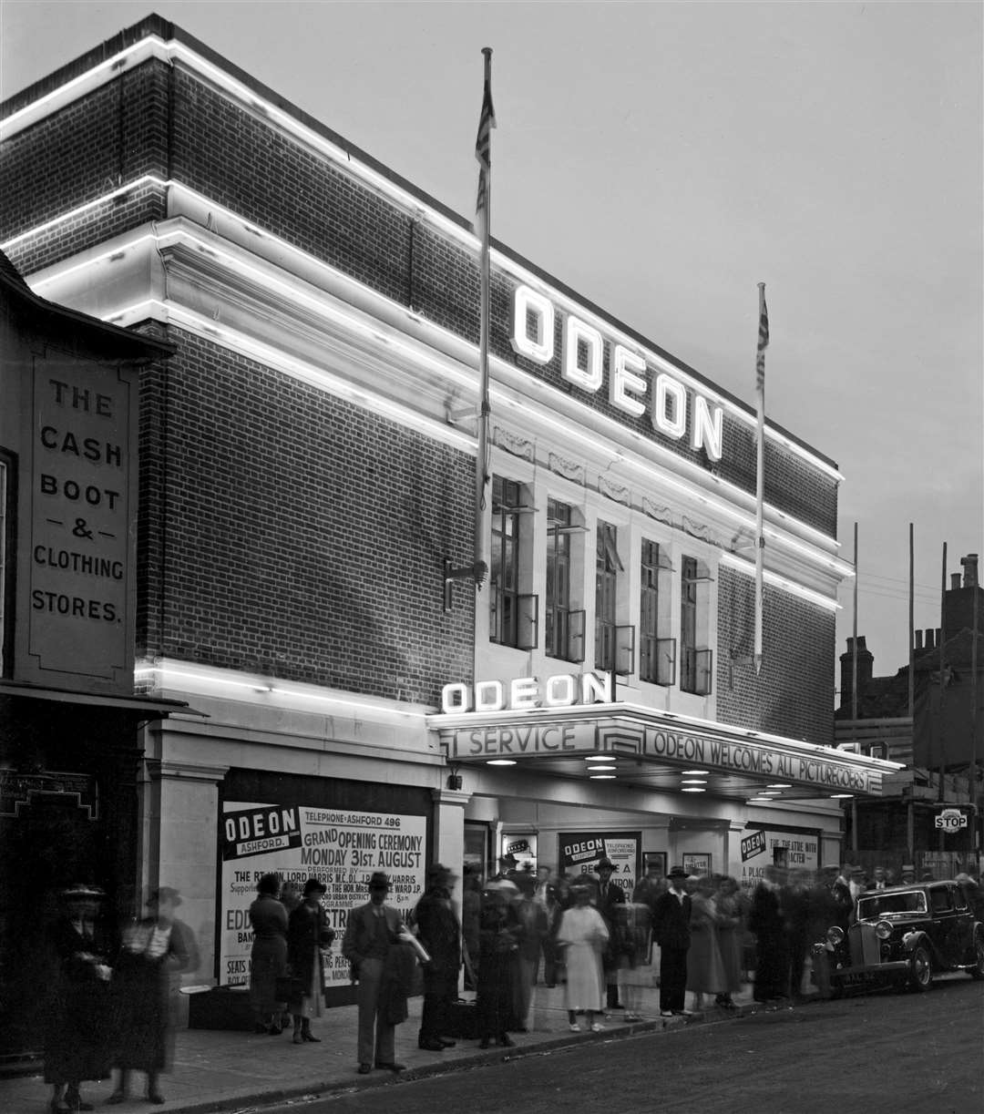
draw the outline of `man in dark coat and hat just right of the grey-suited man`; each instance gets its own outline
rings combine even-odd
[[[425,1052],[444,1052],[455,1045],[446,1036],[461,969],[461,925],[451,907],[454,885],[450,869],[435,862],[427,871],[427,889],[413,910],[417,938],[430,955],[423,968],[423,1010],[417,1038]]]

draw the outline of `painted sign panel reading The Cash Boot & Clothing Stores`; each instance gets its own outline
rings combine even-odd
[[[133,692],[135,400],[133,373],[36,356],[18,680]]]

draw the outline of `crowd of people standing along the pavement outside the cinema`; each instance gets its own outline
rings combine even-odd
[[[766,867],[750,890],[732,877],[692,876],[679,866],[665,877],[650,867],[631,889],[615,876],[606,858],[575,873],[519,869],[506,857],[486,879],[466,868],[458,890],[457,876],[433,863],[405,922],[387,903],[389,878],[374,872],[341,941],[357,984],[358,1071],[402,1071],[396,1026],[409,1016],[408,998],[421,983],[418,1047],[433,1053],[467,1036],[484,1048],[513,1045],[512,1034],[533,1027],[537,981],[563,986],[572,1032],[582,1032],[582,1018],[598,1032],[616,1009],[626,1020],[641,1019],[644,985],[659,986],[663,1017],[703,1010],[711,1000],[733,1010],[732,996],[747,983],[767,1009],[822,996],[822,969],[813,971],[815,987],[805,985],[810,946],[834,925],[846,930],[861,895],[896,882],[884,867],[869,878],[850,863],[816,872]],[[898,881],[915,880],[914,868],[903,866]],[[920,880],[929,880],[926,872]],[[984,918],[978,879],[964,873],[957,881]],[[299,890],[269,873],[256,889],[250,907],[255,1032],[290,1029],[294,1044],[316,1043],[311,1018],[324,1010],[334,939],[325,886],[310,878]],[[176,890],[157,889],[147,916],[117,932],[107,929],[103,901],[92,887],[65,890],[51,932],[57,977],[46,1015],[45,1078],[53,1088],[52,1114],[91,1110],[81,1083],[114,1069],[109,1103],[124,1102],[135,1071],[146,1075],[147,1098],[164,1102],[159,1078],[171,1061],[175,977],[198,965],[194,936],[175,916]],[[475,991],[471,1007],[458,998],[462,973]]]

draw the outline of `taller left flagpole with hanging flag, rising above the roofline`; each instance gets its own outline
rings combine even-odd
[[[483,47],[485,56],[485,86],[481,102],[481,119],[478,126],[476,155],[479,170],[478,205],[476,216],[480,219],[480,293],[478,309],[478,456],[475,461],[475,565],[488,568],[491,522],[486,524],[486,488],[488,476],[488,332],[489,332],[489,228],[491,225],[491,157],[490,129],[496,126],[491,102],[491,47]]]

